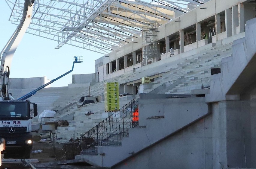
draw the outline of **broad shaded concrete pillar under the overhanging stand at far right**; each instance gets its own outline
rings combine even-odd
[[[225,101],[226,114],[226,139],[227,139],[227,164],[245,168],[245,150],[247,166],[250,164],[251,153],[247,146],[250,145],[250,104],[242,101]],[[249,124],[248,124],[249,123]],[[250,146],[248,146],[250,147]],[[251,148],[250,148],[251,150]]]

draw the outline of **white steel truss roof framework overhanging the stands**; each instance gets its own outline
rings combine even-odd
[[[207,1],[207,0],[205,0]],[[175,14],[197,7],[203,0],[35,0],[27,33],[107,54],[138,38],[146,22],[161,26]],[[6,1],[10,21],[18,25],[23,0]]]

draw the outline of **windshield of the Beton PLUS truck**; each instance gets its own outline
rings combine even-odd
[[[29,104],[27,102],[0,102],[0,116],[30,117]]]

